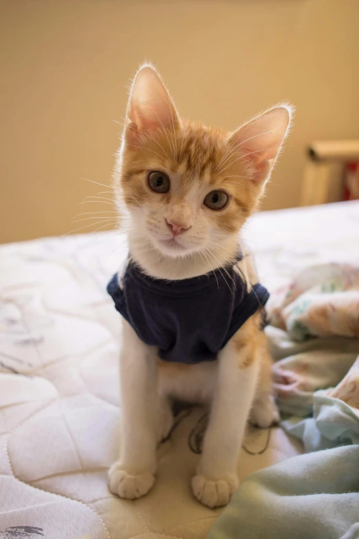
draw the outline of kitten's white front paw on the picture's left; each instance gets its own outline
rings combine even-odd
[[[109,469],[109,489],[112,494],[135,500],[149,492],[155,483],[155,478],[150,472],[145,474],[132,475],[126,472],[120,463],[114,463]]]

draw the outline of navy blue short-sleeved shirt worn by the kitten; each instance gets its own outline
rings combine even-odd
[[[116,273],[107,292],[138,337],[159,348],[161,359],[199,363],[216,359],[269,297],[261,284],[248,292],[235,266],[227,266],[226,271],[221,268],[191,279],[166,281],[145,275],[130,261],[123,286]]]

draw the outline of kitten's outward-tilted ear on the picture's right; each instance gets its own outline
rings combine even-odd
[[[239,127],[229,137],[239,156],[248,162],[254,184],[263,186],[287,136],[294,108],[279,105]]]

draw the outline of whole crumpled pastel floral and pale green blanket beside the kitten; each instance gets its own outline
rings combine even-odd
[[[305,268],[271,317],[281,426],[307,454],[247,478],[208,539],[358,539],[358,266]]]

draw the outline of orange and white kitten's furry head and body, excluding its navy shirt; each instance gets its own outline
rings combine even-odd
[[[278,105],[227,133],[179,118],[153,67],[138,71],[115,191],[120,214],[129,215],[131,260],[144,274],[191,279],[235,259],[239,231],[270,178],[291,113],[288,105]],[[162,175],[154,188],[151,171]],[[168,184],[162,189],[164,178]],[[213,191],[210,204],[205,203]],[[169,399],[174,397],[211,405],[192,489],[208,507],[228,503],[238,485],[237,458],[248,417],[262,427],[279,419],[260,325],[258,310],[219,350],[216,361],[186,365],[159,359],[157,348],[144,344],[122,319],[122,450],[109,470],[113,494],[133,499],[151,489],[156,447],[171,428]]]

